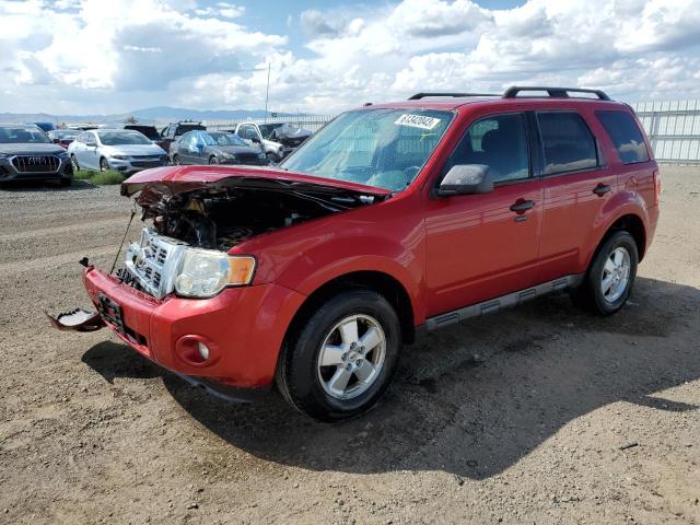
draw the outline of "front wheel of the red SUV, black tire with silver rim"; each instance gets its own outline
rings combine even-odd
[[[370,290],[351,289],[319,304],[290,334],[276,383],[302,413],[320,421],[349,419],[384,394],[400,348],[398,316],[388,301]]]

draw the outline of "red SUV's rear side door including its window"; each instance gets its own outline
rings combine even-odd
[[[582,113],[536,112],[536,121],[545,189],[539,280],[548,281],[585,272],[594,230],[617,185]]]

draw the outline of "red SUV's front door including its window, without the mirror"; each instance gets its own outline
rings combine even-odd
[[[427,315],[536,284],[542,186],[530,167],[525,114],[472,122],[445,168],[490,166],[489,194],[427,199]]]

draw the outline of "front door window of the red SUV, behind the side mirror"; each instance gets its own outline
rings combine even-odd
[[[486,164],[494,183],[529,177],[525,116],[493,115],[472,122],[455,148],[445,173],[457,164]]]

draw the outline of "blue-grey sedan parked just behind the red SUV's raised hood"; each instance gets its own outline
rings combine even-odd
[[[171,143],[173,164],[268,164],[259,145],[224,131],[189,131]]]

